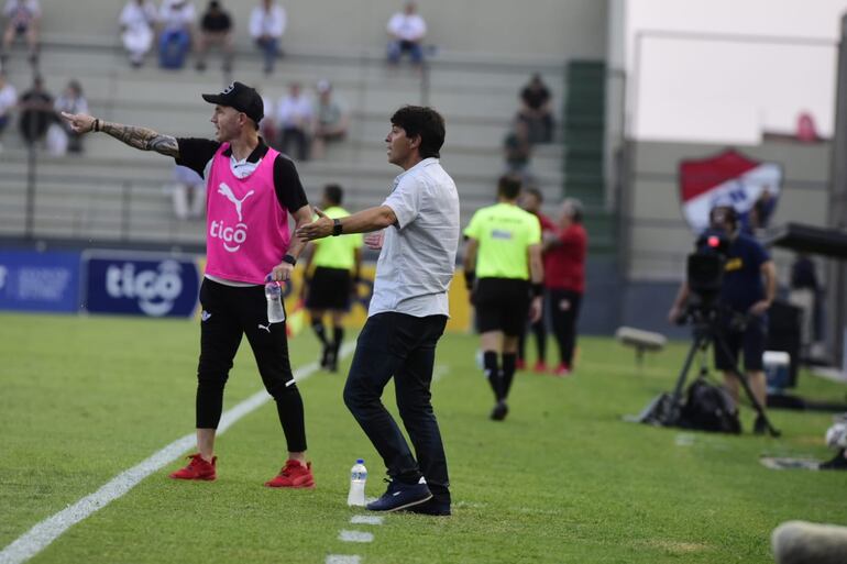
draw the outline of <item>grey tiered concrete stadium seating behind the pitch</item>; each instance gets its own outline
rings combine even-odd
[[[105,120],[178,135],[211,135],[210,109],[199,93],[220,90],[220,71],[161,70],[153,60],[132,69],[123,53],[108,42],[46,43],[42,58],[48,90],[56,95],[67,80],[79,79],[91,112]],[[23,62],[13,62],[9,75],[20,91],[28,88],[30,74]],[[338,181],[346,188],[345,203],[353,210],[378,203],[399,173],[385,162],[383,139],[391,112],[404,103],[436,107],[448,122],[442,161],[457,180],[465,224],[475,209],[494,198],[496,178],[503,170],[502,141],[528,75],[522,65],[442,57],[433,60],[424,89],[414,70],[389,70],[378,56],[304,53],[286,57],[268,79],[255,54],[241,51],[235,76],[256,85],[274,101],[293,80],[309,89],[319,78],[332,81],[334,95],[352,110],[348,140],[331,144],[321,161],[298,163],[298,169],[310,199],[319,197],[323,184]],[[563,96],[563,67],[547,67],[546,79],[556,100]],[[7,131],[7,151],[0,154],[3,236],[24,235],[25,226],[29,165],[15,130],[12,125]],[[168,159],[134,152],[102,135],[89,136],[85,144],[81,157],[37,155],[31,235],[133,245],[202,245],[201,223],[176,220],[163,192],[172,169]],[[561,145],[539,146],[532,161],[550,213],[556,213],[562,196],[563,153]]]

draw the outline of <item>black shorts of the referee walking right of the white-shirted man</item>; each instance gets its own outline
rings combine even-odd
[[[503,331],[509,336],[524,332],[529,314],[529,281],[515,278],[480,278],[474,289],[476,330]]]

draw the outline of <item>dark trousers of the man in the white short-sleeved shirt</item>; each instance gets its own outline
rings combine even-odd
[[[436,344],[446,325],[446,316],[416,318],[386,312],[367,318],[344,386],[344,403],[383,457],[393,479],[417,483],[424,475],[433,496],[450,502],[447,457],[429,389]],[[392,376],[397,408],[418,462],[381,401]]]

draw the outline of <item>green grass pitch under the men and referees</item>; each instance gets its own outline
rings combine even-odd
[[[196,322],[0,314],[0,548],[194,427]],[[688,343],[649,356],[609,339],[582,339],[578,371],[516,377],[510,412],[487,419],[491,391],[476,339],[439,345],[433,403],[453,516],[386,516],[351,524],[345,506],[356,457],[367,495],[384,468],[341,400],[343,375],[300,384],[317,489],[264,488],[284,460],[266,403],[219,438],[219,478],[175,483],[175,462],[63,537],[33,562],[297,562],[330,554],[371,563],[767,563],[770,531],[788,519],[847,524],[847,473],[770,471],[760,455],[828,458],[826,413],[772,411],[780,439],[625,423],[669,390]],[[290,343],[312,362],[309,334]],[[551,347],[552,352],[552,347]],[[342,363],[342,371],[349,358]],[[246,341],[226,408],[261,388]],[[844,400],[845,387],[801,375],[798,394]],[[393,392],[386,403],[394,411]],[[341,530],[374,534],[339,540]]]

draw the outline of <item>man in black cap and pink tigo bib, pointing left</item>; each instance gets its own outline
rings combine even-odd
[[[223,387],[242,336],[246,335],[262,381],[276,401],[288,446],[285,466],[265,485],[311,488],[315,477],[311,465],[306,463],[302,399],[292,374],[285,322],[268,322],[264,295],[265,273],[273,280],[288,280],[305,245],[300,239],[290,239],[288,215],[294,217],[297,226],[305,225],[311,221],[311,208],[294,163],[258,136],[264,114],[258,93],[233,82],[222,92],[202,98],[215,104],[215,141],[176,139],[79,113],[63,117],[78,133],[103,132],[132,147],[174,157],[178,165],[202,175],[208,184],[208,264],[200,288],[197,369],[199,452],[170,477],[216,478],[213,446]],[[233,221],[234,213],[238,218]]]

